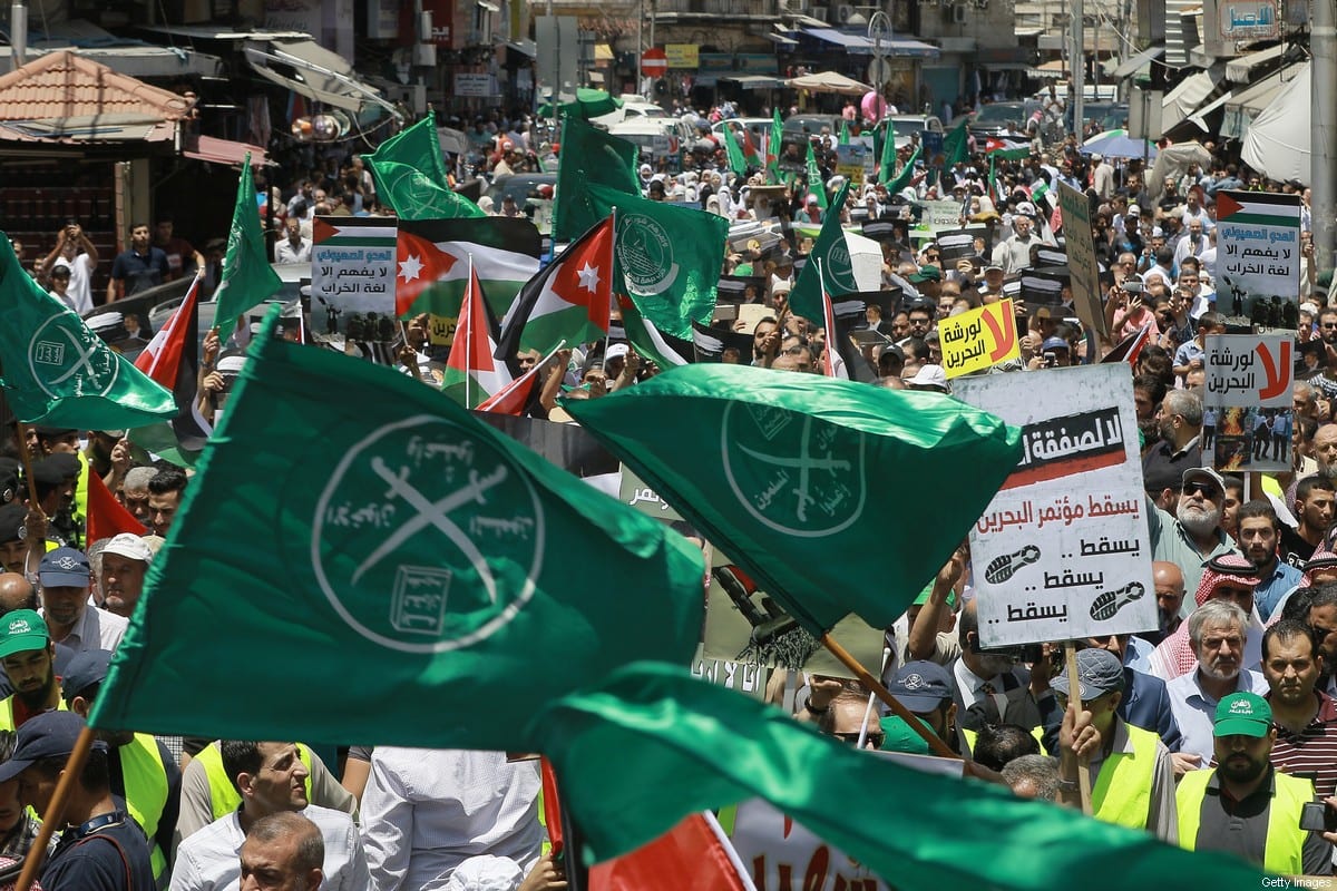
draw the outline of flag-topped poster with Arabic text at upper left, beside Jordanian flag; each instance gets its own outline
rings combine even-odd
[[[394,318],[396,220],[317,216],[312,244],[312,330],[356,343],[390,342]]]

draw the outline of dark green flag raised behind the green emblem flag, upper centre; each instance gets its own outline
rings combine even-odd
[[[552,220],[555,242],[574,242],[608,215],[607,211],[600,212],[590,198],[591,183],[640,198],[640,180],[636,178],[639,151],[635,143],[598,130],[575,115],[563,119]]]

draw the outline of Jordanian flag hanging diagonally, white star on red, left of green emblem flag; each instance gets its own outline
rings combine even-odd
[[[612,218],[606,218],[520,289],[501,322],[496,355],[551,351],[608,334],[612,305]]]

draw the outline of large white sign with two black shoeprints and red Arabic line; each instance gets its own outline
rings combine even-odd
[[[971,530],[980,641],[1157,627],[1132,387],[1122,363],[965,378],[953,394],[1021,427],[1023,457]]]

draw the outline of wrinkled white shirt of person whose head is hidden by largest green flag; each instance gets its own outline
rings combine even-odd
[[[362,795],[373,891],[440,888],[491,854],[528,874],[539,860],[539,767],[503,752],[377,747]]]

